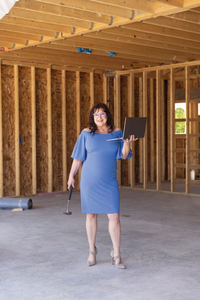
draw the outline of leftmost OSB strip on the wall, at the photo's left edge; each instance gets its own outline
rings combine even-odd
[[[2,131],[3,131],[3,194],[15,193],[15,110],[14,67],[1,66]]]

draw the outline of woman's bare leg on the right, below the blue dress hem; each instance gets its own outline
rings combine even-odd
[[[121,224],[119,220],[119,214],[108,214],[109,218],[109,234],[112,239],[114,257],[120,253],[120,238],[121,238]],[[115,263],[120,262],[120,257],[115,260]]]

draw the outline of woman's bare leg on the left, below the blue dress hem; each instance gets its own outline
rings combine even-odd
[[[97,215],[98,214],[86,214],[86,231],[88,235],[89,247],[92,252],[95,253],[95,241],[97,235]],[[89,254],[88,261],[95,261],[95,257]]]

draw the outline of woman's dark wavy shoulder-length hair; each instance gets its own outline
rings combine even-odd
[[[99,110],[100,108],[106,113],[106,117],[107,117],[106,125],[108,127],[108,133],[112,133],[115,130],[115,125],[107,105],[104,103],[97,103],[91,108],[90,116],[89,116],[89,123],[90,123],[89,129],[91,130],[91,133],[93,132],[93,135],[96,131],[99,132],[97,125],[94,123],[93,113],[96,110]]]

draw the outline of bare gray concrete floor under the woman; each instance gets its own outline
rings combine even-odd
[[[32,197],[0,211],[2,300],[194,300],[200,298],[200,198],[120,189],[121,256],[111,264],[106,215],[98,216],[97,264],[88,267],[80,193]]]

